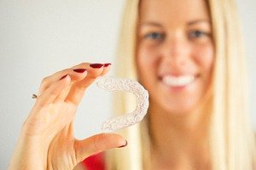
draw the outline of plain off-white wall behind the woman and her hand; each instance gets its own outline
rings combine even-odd
[[[256,131],[256,1],[236,0],[247,49],[250,116]],[[114,67],[125,0],[0,0],[0,169],[7,169],[20,127],[43,77],[81,62]],[[114,69],[114,68],[113,68]],[[110,71],[113,75],[113,71]],[[75,136],[100,133],[111,115],[111,94],[88,89],[75,119]]]

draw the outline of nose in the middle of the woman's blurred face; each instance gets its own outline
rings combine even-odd
[[[183,67],[189,59],[189,43],[180,36],[169,37],[162,46],[162,61],[173,67]]]

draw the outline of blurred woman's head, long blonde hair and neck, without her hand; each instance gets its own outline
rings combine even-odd
[[[127,2],[118,55],[119,65],[125,64],[119,77],[137,77],[149,91],[150,106],[141,135],[140,127],[126,129],[133,147],[114,150],[116,169],[256,168],[234,3]],[[177,89],[186,81],[187,89]]]

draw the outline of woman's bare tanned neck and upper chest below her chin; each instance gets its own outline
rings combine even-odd
[[[172,114],[151,105],[148,126],[153,166],[157,169],[209,169],[206,109],[204,106],[190,113]]]

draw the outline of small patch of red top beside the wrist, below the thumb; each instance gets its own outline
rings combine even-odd
[[[86,170],[106,170],[103,152],[87,157],[82,163],[86,167]]]

